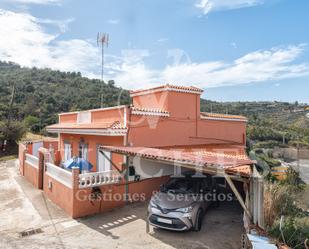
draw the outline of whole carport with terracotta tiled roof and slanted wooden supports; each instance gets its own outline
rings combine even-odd
[[[125,147],[125,146],[101,146],[100,150],[109,151],[126,156],[126,169],[133,164],[132,159],[141,159],[142,164],[149,167],[159,165],[174,166],[196,170],[211,175],[223,177],[236,196],[246,215],[245,226],[255,223],[263,224],[263,201],[261,181],[256,180],[258,173],[255,169],[255,161],[249,159],[242,147],[217,146],[217,150],[209,149],[208,146],[184,148],[149,148],[149,147]],[[148,162],[150,164],[148,164]],[[176,166],[176,167],[175,167]],[[125,171],[128,183],[128,172]],[[175,171],[174,171],[175,172]],[[243,198],[235,182],[242,183]]]

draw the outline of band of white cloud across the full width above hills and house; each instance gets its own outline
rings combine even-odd
[[[0,10],[0,37],[0,60],[100,77],[100,51],[94,42],[60,40],[58,34],[44,30],[42,20],[30,14]],[[132,89],[162,83],[206,88],[295,78],[309,75],[309,64],[297,61],[304,49],[302,44],[277,47],[251,52],[234,61],[201,63],[191,62],[188,54],[173,49],[166,59],[174,63],[161,70],[145,63],[152,56],[148,50],[123,50],[120,57],[106,55],[104,78]]]

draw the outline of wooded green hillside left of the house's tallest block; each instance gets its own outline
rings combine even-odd
[[[9,116],[9,102],[15,83],[11,115],[16,120],[39,119],[37,131],[57,121],[57,113],[100,107],[101,82],[80,73],[22,68],[0,62],[0,121]],[[104,84],[104,106],[129,103],[128,91],[113,81]],[[120,99],[118,100],[120,96]]]

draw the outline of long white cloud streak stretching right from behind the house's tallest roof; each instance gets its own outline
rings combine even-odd
[[[308,63],[295,63],[303,50],[304,45],[272,48],[248,53],[232,62],[186,62],[163,70],[147,68],[142,58],[138,63],[126,59],[120,61],[114,78],[117,84],[130,88],[162,83],[207,88],[295,78],[309,75]]]

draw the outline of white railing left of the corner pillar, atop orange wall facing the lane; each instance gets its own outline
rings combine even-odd
[[[65,186],[72,188],[72,173],[52,163],[46,163],[46,174]]]

